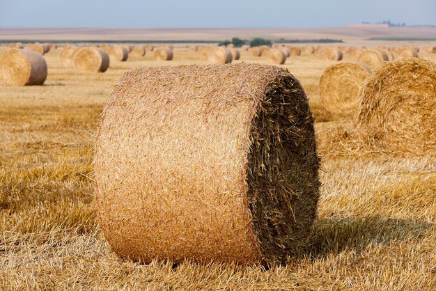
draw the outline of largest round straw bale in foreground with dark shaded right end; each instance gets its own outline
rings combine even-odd
[[[96,204],[120,257],[267,265],[306,245],[319,159],[309,103],[287,70],[137,68],[98,130]]]

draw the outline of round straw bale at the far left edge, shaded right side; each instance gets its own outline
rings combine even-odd
[[[0,85],[42,85],[47,78],[43,56],[27,49],[8,49],[0,56]]]

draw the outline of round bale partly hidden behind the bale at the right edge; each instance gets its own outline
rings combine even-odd
[[[318,91],[322,107],[338,116],[354,116],[358,92],[371,69],[358,63],[337,63],[325,69]]]

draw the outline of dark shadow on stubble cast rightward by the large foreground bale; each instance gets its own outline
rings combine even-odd
[[[313,232],[295,259],[309,255],[312,259],[327,258],[329,254],[341,253],[345,249],[361,253],[370,244],[387,245],[391,242],[421,238],[435,223],[412,219],[391,219],[386,217],[350,217],[319,219],[313,225]]]

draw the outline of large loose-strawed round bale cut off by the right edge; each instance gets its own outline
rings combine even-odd
[[[359,91],[357,122],[367,140],[394,152],[436,150],[436,64],[421,58],[385,63]]]

